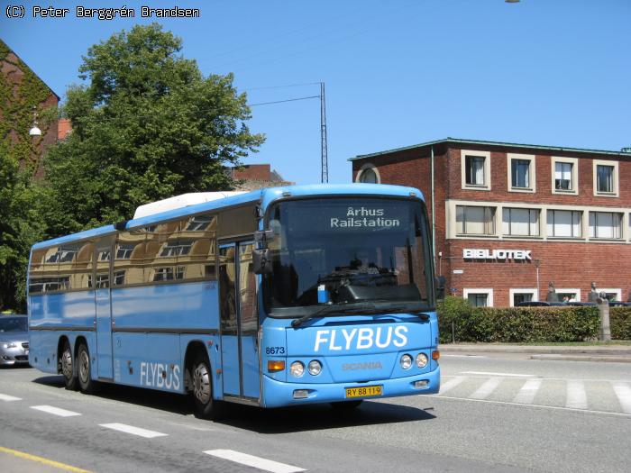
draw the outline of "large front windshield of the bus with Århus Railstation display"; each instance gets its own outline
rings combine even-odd
[[[327,305],[431,308],[425,215],[417,200],[383,197],[274,205],[268,219],[272,273],[265,285],[270,314],[296,316]]]

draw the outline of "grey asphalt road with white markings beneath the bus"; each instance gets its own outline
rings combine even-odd
[[[196,419],[181,396],[110,386],[85,396],[61,377],[2,369],[0,471],[628,470],[631,364],[496,354],[441,365],[438,396],[342,415],[234,406],[220,422]]]

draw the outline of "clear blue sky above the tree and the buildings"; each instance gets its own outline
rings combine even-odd
[[[204,75],[233,73],[267,140],[244,164],[320,182],[325,83],[329,182],[349,158],[447,137],[596,150],[631,146],[631,0],[2,0],[0,38],[62,99],[87,49],[161,23]],[[8,18],[7,6],[23,6]],[[32,5],[69,8],[33,18]],[[76,6],[135,18],[78,18]],[[141,7],[199,18],[142,19]],[[15,10],[12,10],[13,12]]]

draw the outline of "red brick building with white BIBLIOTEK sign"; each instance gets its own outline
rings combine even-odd
[[[585,302],[595,282],[631,301],[631,149],[447,138],[350,160],[355,182],[423,191],[453,295],[508,306],[553,283]]]

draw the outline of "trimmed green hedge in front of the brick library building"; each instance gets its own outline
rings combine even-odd
[[[631,339],[631,310],[612,307],[612,338]],[[550,342],[586,341],[598,337],[597,307],[471,307],[462,297],[448,296],[438,305],[440,341]]]

